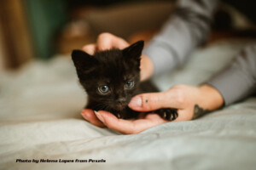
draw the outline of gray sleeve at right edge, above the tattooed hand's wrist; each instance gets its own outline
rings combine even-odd
[[[244,48],[224,71],[212,77],[207,84],[216,88],[230,105],[256,92],[256,43]]]

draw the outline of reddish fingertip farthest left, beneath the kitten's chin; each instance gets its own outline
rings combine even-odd
[[[94,111],[90,109],[84,109],[81,112],[84,119],[97,127],[106,127],[95,115]]]

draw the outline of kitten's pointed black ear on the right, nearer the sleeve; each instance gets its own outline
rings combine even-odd
[[[126,59],[136,59],[139,60],[142,52],[143,52],[143,47],[144,47],[144,41],[138,41],[128,48],[123,49],[123,54]]]

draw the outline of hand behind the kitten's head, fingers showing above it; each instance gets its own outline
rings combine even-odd
[[[104,32],[97,37],[96,43],[87,44],[83,47],[83,50],[93,55],[97,51],[107,50],[111,48],[123,49],[129,46],[129,43],[120,37],[116,37],[113,34]],[[146,80],[153,75],[154,65],[148,56],[143,55],[141,57],[141,80]]]

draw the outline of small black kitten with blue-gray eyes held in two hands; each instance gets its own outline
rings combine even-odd
[[[137,94],[157,92],[151,82],[140,82],[140,59],[143,41],[123,50],[110,49],[93,56],[81,50],[73,50],[72,59],[79,82],[89,96],[85,106],[93,111],[109,111],[113,115],[129,119],[138,116],[127,105]],[[168,108],[152,111],[167,120],[177,118],[177,110]]]

